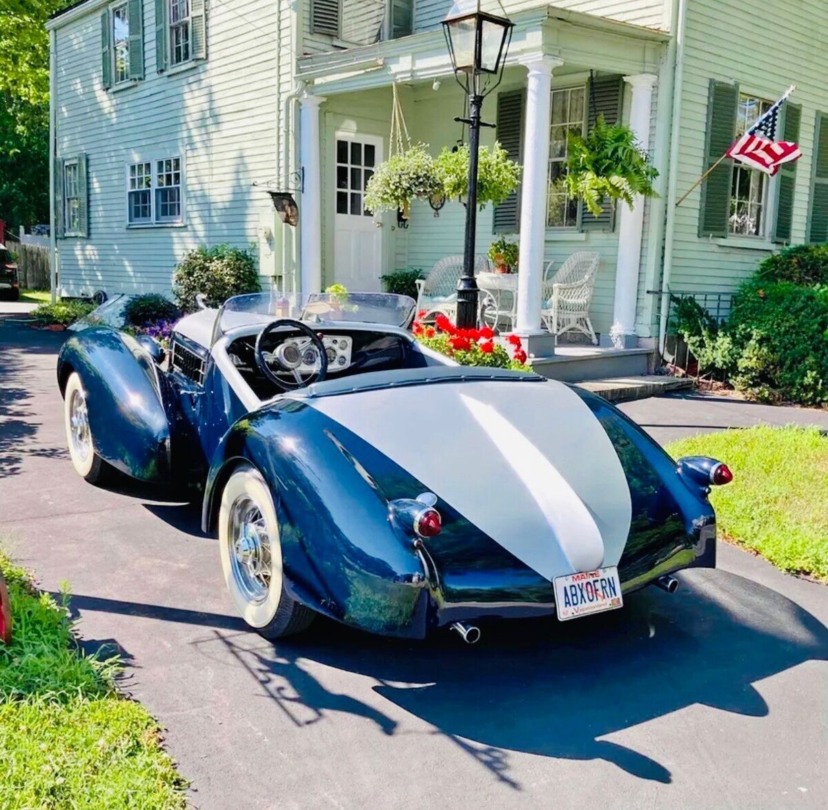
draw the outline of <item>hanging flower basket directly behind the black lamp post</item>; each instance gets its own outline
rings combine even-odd
[[[517,188],[522,168],[511,161],[499,143],[489,149],[480,147],[478,157],[477,202],[485,205],[501,205]],[[435,161],[437,176],[449,199],[461,199],[469,194],[469,146],[466,144],[452,152],[444,147]]]

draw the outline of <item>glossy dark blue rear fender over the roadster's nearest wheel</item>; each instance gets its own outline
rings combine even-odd
[[[392,526],[388,500],[325,433],[325,422],[296,402],[238,420],[210,465],[202,528],[215,528],[232,471],[252,465],[277,509],[291,596],[346,624],[421,638],[428,583],[412,538]]]

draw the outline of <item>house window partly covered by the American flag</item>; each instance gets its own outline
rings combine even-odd
[[[736,137],[741,137],[753,126],[772,102],[752,95],[739,94],[739,110],[736,118]],[[731,234],[739,236],[765,236],[768,222],[768,186],[770,178],[763,171],[734,163],[733,181],[730,186]]]

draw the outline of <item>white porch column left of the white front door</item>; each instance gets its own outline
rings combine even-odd
[[[301,292],[322,291],[322,167],[319,107],[325,99],[305,91],[300,96],[299,164],[305,171],[299,219]]]

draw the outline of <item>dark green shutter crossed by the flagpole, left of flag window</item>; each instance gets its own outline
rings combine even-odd
[[[711,79],[707,101],[704,171],[709,171],[734,142],[738,109],[739,85]],[[710,172],[702,184],[699,236],[727,236],[732,182],[733,162],[725,159]]]

